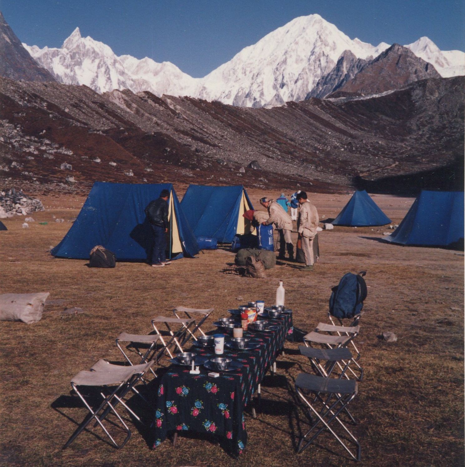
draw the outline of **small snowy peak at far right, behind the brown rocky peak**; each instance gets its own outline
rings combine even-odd
[[[432,64],[443,78],[465,74],[465,52],[461,50],[441,51],[433,41],[424,36],[404,47]]]

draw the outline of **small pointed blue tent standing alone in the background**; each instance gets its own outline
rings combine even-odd
[[[391,219],[382,212],[365,190],[355,191],[347,205],[333,220],[335,226],[383,226]]]

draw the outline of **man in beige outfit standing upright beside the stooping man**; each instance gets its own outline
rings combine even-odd
[[[298,203],[300,205],[300,212],[297,219],[298,236],[302,241],[302,250],[304,251],[305,266],[301,268],[302,271],[311,271],[315,259],[313,257],[313,239],[317,234],[317,227],[319,224],[317,209],[307,199],[305,191],[301,191],[297,195]]]

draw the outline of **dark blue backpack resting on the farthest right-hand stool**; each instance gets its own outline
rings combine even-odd
[[[367,298],[366,271],[358,274],[348,272],[342,276],[339,285],[333,287],[329,298],[329,312],[335,318],[354,318],[363,308],[363,300]]]

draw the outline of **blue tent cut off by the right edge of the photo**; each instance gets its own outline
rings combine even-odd
[[[386,240],[403,245],[446,246],[463,238],[463,191],[422,191]]]

